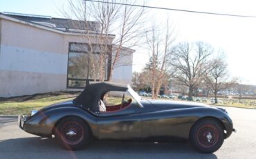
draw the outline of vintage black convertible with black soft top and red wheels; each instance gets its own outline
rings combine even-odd
[[[104,104],[106,96],[120,97],[120,104]],[[109,82],[87,85],[72,101],[19,115],[19,127],[42,137],[54,135],[66,149],[81,149],[93,139],[185,139],[203,153],[217,151],[235,131],[224,109],[194,102],[141,99],[130,86]]]

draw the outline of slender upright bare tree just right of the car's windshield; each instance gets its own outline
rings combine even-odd
[[[161,30],[165,30],[165,32],[161,32]],[[161,35],[163,35],[163,37],[161,37]],[[168,19],[165,29],[152,26],[151,31],[147,32],[146,38],[152,60],[152,68],[150,68],[152,71],[152,99],[156,99],[163,84],[163,80],[167,75],[169,68],[167,58],[171,56],[170,46],[175,39]]]

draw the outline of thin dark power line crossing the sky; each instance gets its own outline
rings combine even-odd
[[[256,16],[250,16],[250,15],[230,15],[230,14],[223,14],[223,13],[217,13],[217,12],[200,12],[200,11],[194,11],[194,10],[180,10],[180,9],[174,9],[174,8],[143,6],[143,5],[127,4],[127,3],[116,3],[116,2],[109,2],[109,1],[95,1],[95,0],[84,0],[84,1],[117,4],[117,5],[123,5],[123,6],[134,6],[134,7],[142,7],[142,8],[153,8],[153,9],[158,9],[158,10],[173,10],[173,11],[178,11],[178,12],[192,12],[192,13],[199,13],[199,14],[206,14],[206,15],[221,15],[221,16],[229,16],[229,17],[256,18]]]

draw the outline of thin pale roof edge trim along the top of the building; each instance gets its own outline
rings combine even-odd
[[[79,32],[67,32],[67,31],[58,30],[56,28],[51,28],[51,27],[48,27],[48,26],[44,26],[42,24],[37,24],[37,23],[31,22],[31,21],[24,21],[24,20],[21,20],[21,19],[10,17],[8,15],[4,15],[2,12],[0,12],[0,19],[6,19],[6,20],[9,20],[9,21],[14,21],[14,22],[17,22],[19,24],[24,24],[24,25],[27,25],[27,26],[33,26],[35,28],[41,28],[41,29],[44,29],[44,30],[48,30],[48,31],[51,31],[51,32],[57,32],[57,33],[64,34],[64,35],[79,35],[79,36],[85,35],[85,34],[82,34],[82,33],[79,33]],[[97,36],[97,35],[100,35],[100,34],[90,32],[89,35]],[[115,38],[116,35],[104,35],[104,37]]]

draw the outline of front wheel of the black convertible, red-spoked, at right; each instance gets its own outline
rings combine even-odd
[[[190,143],[201,153],[217,151],[224,141],[221,124],[214,119],[199,120],[190,131]]]

